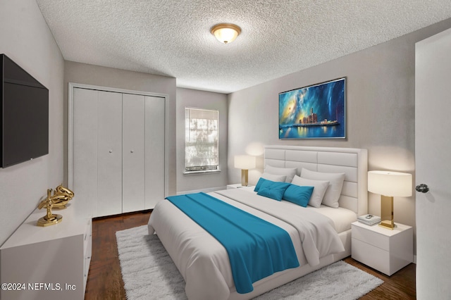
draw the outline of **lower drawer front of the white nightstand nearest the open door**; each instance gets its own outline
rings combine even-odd
[[[354,232],[352,232],[354,233]],[[352,238],[352,258],[384,274],[392,275],[390,270],[390,253],[381,248],[366,244],[359,239]]]

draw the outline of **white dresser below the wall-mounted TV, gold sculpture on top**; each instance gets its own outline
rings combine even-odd
[[[84,299],[91,261],[92,223],[80,218],[77,199],[54,209],[61,223],[39,227],[34,211],[0,248],[0,299]]]

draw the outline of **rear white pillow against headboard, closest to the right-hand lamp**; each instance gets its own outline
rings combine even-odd
[[[338,208],[345,173],[321,173],[302,168],[301,177],[312,180],[327,180],[330,185],[324,194],[323,204],[333,208]]]

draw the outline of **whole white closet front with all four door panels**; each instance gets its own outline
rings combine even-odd
[[[72,188],[93,217],[164,199],[165,106],[160,96],[73,87]]]

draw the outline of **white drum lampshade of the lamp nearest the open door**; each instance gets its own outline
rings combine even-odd
[[[412,196],[412,174],[391,171],[369,171],[368,190],[383,196]]]

